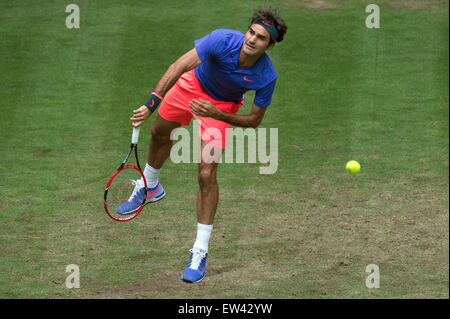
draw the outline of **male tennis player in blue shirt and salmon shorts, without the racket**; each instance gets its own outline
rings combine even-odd
[[[211,32],[196,40],[195,48],[168,68],[148,101],[133,111],[131,121],[134,127],[139,127],[161,104],[159,116],[151,128],[152,139],[144,170],[148,186],[146,203],[165,196],[158,178],[170,155],[173,129],[189,125],[194,117],[200,123],[202,154],[207,145],[213,150],[214,160],[202,158],[198,166],[197,237],[182,275],[186,282],[198,282],[205,275],[208,243],[219,199],[218,160],[228,138],[225,129],[231,125],[255,128],[261,123],[277,80],[266,51],[281,42],[286,31],[287,26],[277,12],[268,8],[255,10],[245,35],[228,29]],[[248,90],[256,91],[250,114],[237,115],[244,103],[243,94]],[[131,213],[136,209],[133,205],[142,203],[143,187],[143,181],[137,183],[133,198],[124,203],[120,213]]]

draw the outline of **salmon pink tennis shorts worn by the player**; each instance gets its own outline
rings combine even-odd
[[[235,104],[214,99],[203,90],[200,81],[195,76],[195,70],[191,70],[178,79],[177,83],[167,92],[159,107],[159,116],[167,121],[187,126],[194,117],[199,123],[199,138],[214,147],[225,149],[229,133],[227,128],[230,128],[230,124],[192,114],[189,102],[193,99],[210,101],[222,112],[230,114],[235,114],[244,101]]]

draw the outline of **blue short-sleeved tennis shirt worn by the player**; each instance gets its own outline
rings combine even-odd
[[[255,90],[253,104],[267,107],[272,101],[277,72],[266,53],[251,67],[238,69],[243,42],[244,34],[228,29],[217,29],[195,40],[202,61],[195,68],[195,76],[217,100],[239,103],[246,91]]]

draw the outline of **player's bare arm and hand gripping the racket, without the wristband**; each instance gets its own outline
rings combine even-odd
[[[153,92],[164,97],[167,91],[172,88],[183,73],[194,69],[201,63],[202,61],[195,48],[183,54],[167,69]],[[139,127],[150,117],[150,115],[152,115],[150,109],[146,105],[142,105],[140,108],[133,111],[133,116],[130,120],[133,122],[134,127]]]

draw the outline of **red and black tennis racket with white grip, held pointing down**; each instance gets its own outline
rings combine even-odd
[[[105,211],[114,220],[131,220],[141,212],[145,205],[147,181],[139,165],[137,153],[139,129],[133,128],[130,150],[106,185],[104,195]],[[136,166],[125,165],[133,149],[136,157]]]

